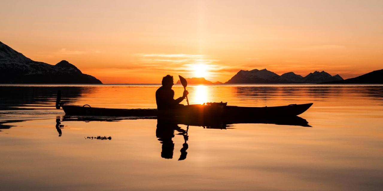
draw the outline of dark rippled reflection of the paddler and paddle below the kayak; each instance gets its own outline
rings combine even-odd
[[[188,149],[188,129],[180,128],[177,123],[172,120],[166,119],[157,119],[157,129],[155,130],[155,136],[158,138],[160,143],[162,144],[161,157],[164,159],[172,159],[173,151],[174,151],[174,131],[177,131],[178,135],[182,135],[184,139],[184,143],[182,144],[182,149],[180,150],[181,155],[178,160],[186,159],[186,155],[188,154],[186,151]]]

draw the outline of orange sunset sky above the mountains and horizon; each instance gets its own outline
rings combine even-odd
[[[0,41],[103,83],[239,70],[355,77],[383,68],[383,1],[8,1]]]

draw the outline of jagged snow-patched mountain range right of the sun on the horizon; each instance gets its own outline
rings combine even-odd
[[[315,71],[309,73],[307,76],[302,77],[301,75],[293,72],[284,73],[281,76],[268,71],[263,70],[240,70],[235,74],[226,84],[294,84],[294,83],[322,83],[334,80],[343,79],[338,74],[331,76],[325,71]]]

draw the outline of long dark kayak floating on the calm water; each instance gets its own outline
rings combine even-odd
[[[110,117],[289,117],[297,116],[308,110],[313,105],[290,104],[274,107],[239,107],[230,106],[225,103],[210,103],[209,105],[185,105],[175,109],[116,109],[90,107],[90,105],[61,105],[65,115],[89,115],[89,116],[110,116]]]

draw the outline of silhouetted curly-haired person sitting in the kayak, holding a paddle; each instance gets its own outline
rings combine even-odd
[[[174,91],[172,90],[173,85],[173,76],[166,75],[164,78],[162,78],[162,86],[159,87],[155,92],[155,102],[157,103],[157,109],[172,109],[183,106],[183,104],[180,104],[180,102],[185,99],[189,92],[185,90],[183,91],[182,97],[174,99]]]

